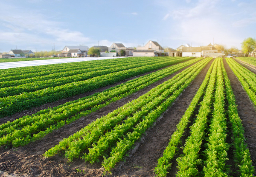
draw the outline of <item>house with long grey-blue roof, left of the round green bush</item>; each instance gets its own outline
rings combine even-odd
[[[60,54],[61,57],[83,57],[87,55],[87,46],[66,45]]]

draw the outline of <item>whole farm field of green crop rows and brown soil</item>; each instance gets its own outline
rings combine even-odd
[[[255,73],[193,57],[0,70],[0,174],[253,176]]]

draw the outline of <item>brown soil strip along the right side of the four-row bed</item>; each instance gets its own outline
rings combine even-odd
[[[244,136],[247,138],[246,143],[250,151],[253,166],[256,166],[256,110],[240,81],[227,64],[226,59],[223,62],[236,97],[238,114],[242,120]]]

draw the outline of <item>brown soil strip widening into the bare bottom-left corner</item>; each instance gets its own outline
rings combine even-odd
[[[171,74],[170,76],[167,76],[164,79],[161,79],[160,81],[155,82],[154,84],[149,85],[148,87],[138,91],[137,93],[132,94],[131,96],[128,96],[126,98],[122,98],[119,101],[113,102],[108,106],[98,110],[97,112],[93,112],[90,115],[81,117],[79,120],[76,120],[69,125],[65,125],[62,128],[55,130],[52,133],[46,135],[44,138],[37,140],[35,142],[31,142],[24,147],[19,147],[17,149],[8,149],[8,148],[5,149],[5,147],[3,146],[0,147],[0,170],[7,171],[9,174],[10,173],[21,174],[21,176],[25,174],[26,175],[29,174],[32,176],[39,176],[39,177],[43,177],[47,175],[60,176],[60,177],[102,176],[103,169],[101,169],[100,163],[90,165],[90,163],[84,162],[84,160],[81,160],[81,159],[74,160],[72,163],[67,163],[67,160],[64,159],[63,155],[55,155],[54,157],[51,157],[48,159],[45,159],[42,155],[46,150],[57,145],[59,141],[63,140],[64,138],[68,138],[70,135],[73,135],[73,133],[76,133],[84,126],[87,126],[91,122],[95,121],[97,118],[107,115],[109,112],[116,110],[118,107],[121,107],[122,105],[128,103],[129,101],[137,99],[139,96],[147,93],[149,90],[156,87],[157,85],[162,84],[164,81],[171,79],[173,76],[182,72],[186,68],[187,67]],[[132,78],[132,79],[135,79],[135,78]],[[112,86],[108,86],[108,87],[112,87]],[[85,94],[89,94],[89,93],[85,93]],[[93,94],[93,93],[90,93],[90,94]],[[84,94],[81,94],[81,95],[84,95]],[[72,97],[67,99],[74,99],[74,98]],[[76,169],[78,167],[84,169],[85,173],[76,172]]]

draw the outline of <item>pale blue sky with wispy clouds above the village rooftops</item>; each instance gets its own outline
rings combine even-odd
[[[256,38],[256,0],[0,0],[0,52],[65,45],[177,48]]]

